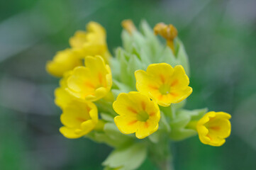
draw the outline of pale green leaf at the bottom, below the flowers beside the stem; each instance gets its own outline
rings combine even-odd
[[[143,143],[115,149],[102,163],[109,168],[138,169],[147,157],[147,148]]]

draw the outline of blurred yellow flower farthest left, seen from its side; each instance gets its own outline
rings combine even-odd
[[[71,49],[66,49],[57,52],[53,60],[47,62],[46,70],[55,77],[62,77],[65,72],[80,65],[82,60]]]

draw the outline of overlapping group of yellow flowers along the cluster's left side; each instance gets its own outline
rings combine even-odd
[[[62,77],[55,90],[55,103],[63,111],[60,132],[67,138],[78,138],[96,128],[99,115],[92,102],[108,94],[112,75],[105,63],[110,57],[106,32],[99,23],[89,23],[87,32],[77,31],[69,44],[71,48],[57,52],[46,64],[46,70]]]

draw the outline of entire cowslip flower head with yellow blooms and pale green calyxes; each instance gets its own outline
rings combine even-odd
[[[62,109],[62,135],[116,148],[103,163],[106,169],[136,169],[148,153],[162,162],[169,140],[196,134],[206,145],[223,145],[230,114],[184,109],[192,88],[177,29],[158,23],[152,30],[143,21],[138,30],[130,20],[122,26],[123,46],[115,55],[108,52],[104,28],[90,22],[87,31],[69,39],[70,48],[46,64],[50,74],[61,77],[55,103]]]

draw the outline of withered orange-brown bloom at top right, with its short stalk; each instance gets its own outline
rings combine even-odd
[[[154,28],[155,35],[161,35],[165,40],[167,40],[167,45],[174,52],[174,38],[177,37],[178,31],[172,26],[172,24],[166,25],[165,23],[157,23]]]

